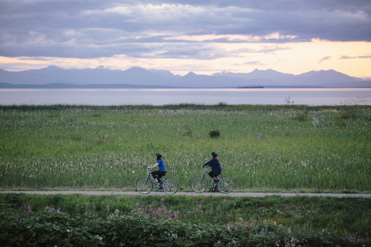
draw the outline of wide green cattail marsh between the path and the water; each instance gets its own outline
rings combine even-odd
[[[234,191],[369,193],[370,119],[370,106],[0,106],[0,188],[134,190],[161,152],[190,191],[216,151]]]

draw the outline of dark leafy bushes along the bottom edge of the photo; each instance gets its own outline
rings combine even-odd
[[[4,206],[4,205],[3,205]],[[107,218],[69,216],[59,209],[33,212],[7,208],[0,213],[2,246],[369,246],[368,238],[339,238],[290,230],[271,224],[231,222],[226,225],[185,224],[158,220],[143,213]]]

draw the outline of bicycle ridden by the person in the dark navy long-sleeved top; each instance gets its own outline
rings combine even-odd
[[[209,179],[209,176],[208,176],[209,174],[206,172],[206,167],[203,167],[203,168],[204,168],[204,174],[202,176],[197,176],[193,178],[191,182],[191,187],[194,192],[203,193],[207,189],[207,181],[205,179],[205,176],[207,180],[209,180],[211,186],[213,186],[213,190],[215,188],[218,188],[218,190],[224,194],[227,194],[233,190],[234,183],[233,183],[232,178],[221,177],[219,178],[219,181],[215,185],[213,185],[213,183],[211,183]],[[216,178],[218,178],[218,176],[216,176]]]

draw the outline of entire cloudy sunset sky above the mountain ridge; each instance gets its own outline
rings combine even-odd
[[[370,0],[1,0],[0,69],[371,77]]]

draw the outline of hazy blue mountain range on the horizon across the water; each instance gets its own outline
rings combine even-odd
[[[260,85],[265,88],[292,87],[371,87],[371,79],[351,77],[335,70],[309,71],[299,75],[275,70],[250,73],[221,72],[212,76],[174,75],[167,70],[61,69],[49,66],[38,70],[10,72],[0,69],[0,88],[236,88],[239,85]]]

